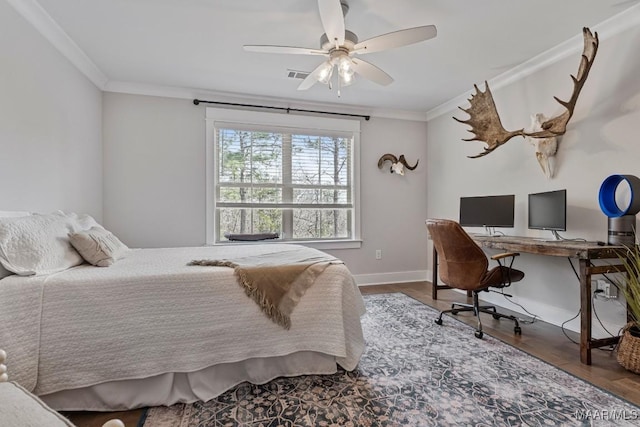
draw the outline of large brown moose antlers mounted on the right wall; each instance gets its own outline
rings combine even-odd
[[[467,120],[460,120],[454,117],[454,120],[470,125],[471,129],[469,130],[469,132],[475,135],[473,138],[463,139],[463,141],[482,141],[487,144],[482,153],[475,156],[468,156],[469,158],[475,159],[478,157],[486,156],[499,146],[505,144],[514,136],[523,136],[527,139],[554,138],[555,140],[556,137],[564,135],[564,133],[567,131],[567,123],[569,123],[569,119],[571,119],[571,116],[573,116],[573,111],[575,109],[576,102],[578,101],[578,95],[580,95],[580,91],[582,90],[582,87],[587,80],[587,76],[589,75],[589,71],[591,70],[591,65],[593,64],[593,60],[596,57],[596,52],[598,51],[598,33],[592,34],[591,30],[585,27],[582,29],[582,35],[584,37],[584,48],[582,51],[582,57],[580,59],[580,67],[578,68],[577,76],[571,76],[571,79],[573,80],[573,93],[571,94],[571,97],[568,101],[562,101],[558,97],[554,96],[554,99],[558,101],[560,105],[562,105],[566,110],[561,114],[542,122],[540,124],[539,130],[506,130],[502,126],[500,116],[498,115],[498,111],[496,109],[496,104],[493,101],[493,95],[491,95],[491,90],[489,89],[489,84],[485,81],[484,92],[478,89],[477,85],[474,85],[476,93],[472,94],[471,98],[469,99],[471,107],[468,109],[459,107],[462,111],[469,114],[469,118]],[[555,150],[547,151],[547,155],[555,155]],[[539,151],[536,152],[536,156],[538,156],[538,161],[540,161],[540,156],[538,153]],[[542,166],[542,168],[543,171],[545,171],[545,166]],[[545,174],[547,174],[546,171]]]

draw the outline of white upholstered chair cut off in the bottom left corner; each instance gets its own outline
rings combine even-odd
[[[37,396],[19,384],[9,382],[4,364],[7,354],[0,349],[0,424],[12,427],[73,427],[73,424],[49,408]],[[107,421],[102,427],[124,427],[120,420]]]

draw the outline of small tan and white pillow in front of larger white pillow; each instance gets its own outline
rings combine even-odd
[[[69,241],[85,261],[98,267],[109,267],[129,251],[113,233],[100,226],[70,233]]]

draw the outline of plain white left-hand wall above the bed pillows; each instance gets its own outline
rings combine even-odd
[[[0,210],[102,218],[102,93],[0,2]]]

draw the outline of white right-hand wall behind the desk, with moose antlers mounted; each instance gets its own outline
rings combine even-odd
[[[451,118],[468,116],[452,110],[430,120],[427,138],[429,217],[457,219],[461,196],[515,194],[515,228],[505,231],[513,235],[551,237],[549,232],[527,230],[527,194],[566,188],[567,231],[561,234],[567,238],[606,241],[607,218],[598,204],[602,181],[611,174],[640,176],[639,46],[640,28],[601,40],[575,115],[559,144],[557,173],[553,179],[544,177],[533,147],[522,138],[512,139],[485,157],[469,159],[466,156],[481,152],[484,145],[462,141],[471,136],[467,132],[469,127]],[[510,130],[526,127],[532,113],[558,113],[559,105],[552,96],[569,98],[572,89],[569,74],[577,72],[578,63],[579,53],[576,53],[501,89],[492,87],[504,127]],[[467,108],[468,103],[461,101],[460,106]],[[431,245],[429,247],[431,253]],[[523,254],[517,266],[525,271],[526,278],[509,291],[516,296],[514,300],[556,324],[578,312],[579,285],[568,260]],[[520,310],[495,294],[485,299]],[[625,323],[624,309],[617,301],[598,300],[595,310],[614,334]],[[597,323],[594,319],[595,335],[601,335]],[[576,319],[568,326],[576,330],[578,324]]]

